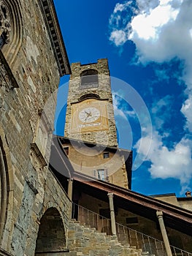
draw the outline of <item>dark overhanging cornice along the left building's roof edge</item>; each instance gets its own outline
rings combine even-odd
[[[71,74],[71,67],[64,45],[64,39],[58,23],[53,0],[41,0],[42,13],[45,18],[47,31],[50,36],[50,42],[53,47],[55,59],[58,64],[60,76]]]

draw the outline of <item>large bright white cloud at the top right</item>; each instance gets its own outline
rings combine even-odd
[[[162,63],[175,57],[183,59],[187,73],[185,80],[189,76],[191,78],[192,1],[137,0],[137,5],[139,10],[134,10],[127,2],[120,4],[120,7],[116,5],[110,18],[110,40],[117,46],[132,40],[137,47],[139,61],[142,63],[147,61]],[[125,10],[127,10],[126,14]],[[132,18],[128,18],[130,15],[128,10],[134,12]],[[119,22],[115,26],[112,20],[117,16],[119,20],[120,14],[123,23],[125,20],[127,22],[124,26]]]

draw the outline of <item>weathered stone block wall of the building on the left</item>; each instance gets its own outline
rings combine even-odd
[[[21,34],[22,37],[18,39],[20,45],[14,58],[9,58],[14,48],[9,49],[9,44],[2,48],[8,63],[7,68],[1,59],[0,136],[7,159],[7,211],[1,225],[0,255],[7,251],[10,255],[32,256],[40,219],[47,208],[57,208],[64,227],[68,225],[69,199],[47,167],[49,152],[46,156],[45,148],[39,150],[36,138],[42,110],[47,108],[45,112],[52,130],[45,129],[43,136],[47,139],[46,145],[50,143],[54,92],[60,77],[40,1],[7,1],[9,3],[14,3],[15,10],[19,10],[22,31],[18,37]],[[36,146],[31,148],[31,143]],[[39,153],[42,158],[37,157]]]

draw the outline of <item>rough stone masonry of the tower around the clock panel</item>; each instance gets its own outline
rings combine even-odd
[[[99,86],[91,89],[80,89],[80,74],[87,69],[96,69],[98,72]],[[80,102],[80,98],[85,94],[97,94],[99,100],[107,101],[107,118],[109,129],[94,132],[71,132],[72,127],[72,104]],[[112,92],[110,84],[110,71],[107,59],[99,59],[93,64],[72,64],[72,75],[69,80],[69,94],[66,110],[65,137],[77,140],[88,141],[91,143],[100,143],[107,146],[117,146],[117,135],[112,106]]]

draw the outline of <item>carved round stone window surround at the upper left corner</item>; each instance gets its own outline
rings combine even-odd
[[[0,36],[5,40],[1,50],[9,66],[12,65],[23,38],[20,10],[18,0],[0,0]]]

